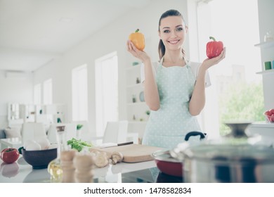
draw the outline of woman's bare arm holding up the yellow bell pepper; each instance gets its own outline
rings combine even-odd
[[[144,64],[145,81],[143,83],[144,83],[145,103],[148,105],[150,110],[158,110],[160,106],[159,93],[157,89],[155,76],[153,74],[150,57],[144,51],[140,51],[136,49],[136,47],[131,41],[127,42],[127,49],[133,56],[140,59]]]

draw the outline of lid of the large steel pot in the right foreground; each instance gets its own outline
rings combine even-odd
[[[182,153],[186,158],[198,160],[274,162],[274,148],[251,144],[200,144],[188,147]]]

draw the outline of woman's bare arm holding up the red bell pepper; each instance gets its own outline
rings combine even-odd
[[[199,115],[205,105],[205,75],[207,69],[212,65],[216,65],[223,58],[226,57],[226,48],[223,49],[221,54],[216,58],[206,59],[200,66],[195,87],[193,89],[193,95],[190,98],[189,111],[191,115]]]

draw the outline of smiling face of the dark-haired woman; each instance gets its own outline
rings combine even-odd
[[[182,49],[187,27],[180,16],[162,18],[159,26],[159,37],[166,50]]]

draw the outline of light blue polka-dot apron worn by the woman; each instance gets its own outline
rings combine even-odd
[[[159,63],[156,82],[160,108],[151,111],[142,144],[175,148],[184,141],[185,134],[201,130],[188,110],[195,77],[189,65],[166,68]]]

